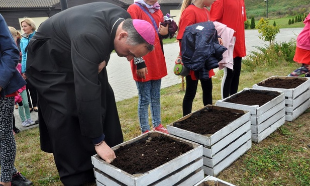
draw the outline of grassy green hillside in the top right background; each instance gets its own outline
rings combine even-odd
[[[248,19],[266,17],[266,2],[264,0],[245,0]],[[296,16],[310,12],[309,0],[268,0],[268,18]]]

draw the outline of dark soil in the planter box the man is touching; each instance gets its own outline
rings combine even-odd
[[[190,151],[193,147],[167,136],[147,137],[115,150],[112,165],[130,174],[141,174]]]

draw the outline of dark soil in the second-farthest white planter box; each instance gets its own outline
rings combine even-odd
[[[275,91],[260,91],[260,90],[245,90],[237,95],[225,100],[228,103],[241,105],[258,105],[259,107],[268,103],[272,99],[278,97],[280,92]]]

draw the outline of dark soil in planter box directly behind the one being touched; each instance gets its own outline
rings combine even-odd
[[[214,134],[242,115],[231,111],[202,109],[185,120],[175,122],[173,126],[202,135]]]

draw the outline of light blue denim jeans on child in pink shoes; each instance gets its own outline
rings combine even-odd
[[[160,117],[160,85],[161,79],[149,80],[146,82],[136,81],[138,88],[138,118],[141,131],[150,130],[149,125],[149,105],[152,115],[152,125],[154,127],[161,124]]]

